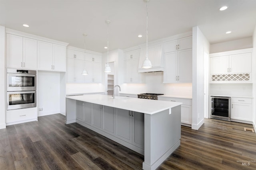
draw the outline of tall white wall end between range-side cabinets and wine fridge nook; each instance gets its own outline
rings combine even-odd
[[[192,129],[197,130],[204,123],[204,53],[209,53],[210,43],[197,26],[192,32]]]

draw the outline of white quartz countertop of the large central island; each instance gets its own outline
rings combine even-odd
[[[140,113],[146,113],[150,115],[182,104],[180,102],[145,100],[145,99],[128,98],[128,97],[120,97],[120,96],[116,96],[116,98],[113,99],[112,96],[102,95],[102,94],[66,96],[66,98],[80,100],[83,102],[89,102],[94,104],[100,104],[100,105],[109,106],[109,107],[115,107],[119,109],[137,111]]]

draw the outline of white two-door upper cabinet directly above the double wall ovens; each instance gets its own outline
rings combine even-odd
[[[6,34],[6,67],[37,69],[37,40]]]

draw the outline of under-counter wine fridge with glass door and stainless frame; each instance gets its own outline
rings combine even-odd
[[[230,121],[230,97],[211,96],[211,115],[213,119]]]

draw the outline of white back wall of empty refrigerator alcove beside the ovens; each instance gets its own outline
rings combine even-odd
[[[60,73],[38,71],[38,116],[60,113]]]

